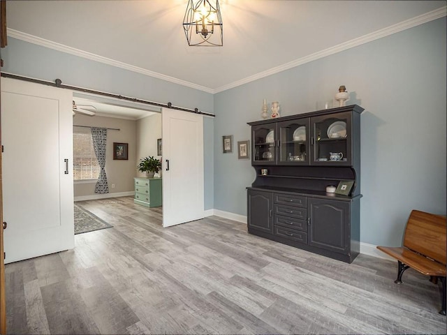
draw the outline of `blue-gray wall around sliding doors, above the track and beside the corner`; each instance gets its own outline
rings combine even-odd
[[[122,94],[174,106],[195,108],[213,113],[212,94],[172,82],[116,68],[64,52],[8,37],[8,46],[1,50],[3,72],[24,75],[63,84]],[[204,142],[213,143],[212,119],[205,117]],[[212,209],[213,156],[212,146],[205,145],[205,209]],[[211,193],[210,193],[211,192]]]

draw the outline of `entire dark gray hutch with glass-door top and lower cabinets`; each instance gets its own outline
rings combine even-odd
[[[352,262],[360,252],[358,105],[249,122],[248,231]],[[263,170],[264,173],[261,173]],[[349,195],[326,186],[352,181]]]

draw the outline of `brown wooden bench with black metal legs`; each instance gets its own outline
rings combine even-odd
[[[409,267],[430,276],[433,283],[442,283],[442,308],[446,315],[446,216],[411,211],[404,232],[404,246],[377,246],[380,251],[397,260],[397,279]]]

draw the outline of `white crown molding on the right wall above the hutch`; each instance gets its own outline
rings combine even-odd
[[[249,82],[254,82],[255,80],[261,79],[263,77],[268,77],[269,75],[274,75],[275,73],[282,72],[284,70],[288,70],[289,68],[295,68],[296,66],[300,66],[302,64],[309,63],[311,61],[316,61],[317,59],[321,59],[323,57],[330,56],[331,54],[337,54],[338,52],[342,52],[344,50],[351,49],[351,47],[357,47],[358,45],[362,45],[365,43],[372,42],[373,40],[378,40],[379,38],[383,38],[400,31],[404,31],[406,29],[410,29],[412,27],[416,27],[420,24],[424,24],[433,20],[437,20],[441,17],[447,15],[447,6],[438,8],[436,10],[432,10],[431,12],[425,13],[423,15],[419,15],[413,17],[409,20],[402,21],[397,24],[393,24],[390,27],[386,27],[380,29],[378,31],[374,31],[365,36],[361,36],[359,38],[354,38],[353,40],[349,40],[347,42],[341,43],[339,45],[335,45],[333,47],[328,47],[328,49],[321,50],[315,52],[314,54],[309,54],[306,57],[302,57],[300,59],[295,59],[295,61],[291,61],[289,63],[270,68],[269,70],[265,70],[263,72],[257,73],[256,75],[251,75],[242,80],[237,80],[236,82],[232,82],[228,85],[224,85],[214,89],[214,94],[219,93],[221,91],[226,91],[227,89],[233,89],[234,87],[241,86],[243,84],[247,84]]]

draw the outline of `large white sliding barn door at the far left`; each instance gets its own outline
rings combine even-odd
[[[74,248],[72,95],[1,78],[6,263]]]

